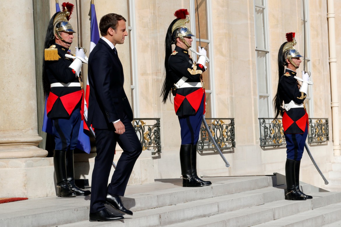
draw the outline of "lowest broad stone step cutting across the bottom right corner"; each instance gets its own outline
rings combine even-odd
[[[341,202],[318,209],[302,212],[271,222],[255,225],[254,227],[320,227],[337,226],[331,223],[341,220]]]

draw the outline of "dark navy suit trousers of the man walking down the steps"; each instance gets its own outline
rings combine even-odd
[[[125,126],[125,132],[121,135],[115,133],[114,127],[95,129],[97,156],[92,172],[90,212],[98,212],[105,208],[107,193],[124,195],[134,164],[142,152],[141,143],[131,121],[126,115],[121,121]],[[123,152],[108,185],[116,143]]]

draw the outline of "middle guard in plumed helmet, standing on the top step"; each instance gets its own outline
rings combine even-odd
[[[174,97],[174,109],[180,123],[180,165],[183,187],[202,187],[210,181],[200,179],[196,171],[196,147],[205,114],[205,89],[202,73],[206,70],[206,50],[199,47],[201,55],[194,62],[189,55],[194,35],[186,27],[189,13],[180,9],[169,25],[165,39],[165,80],[161,96],[166,103],[170,93]],[[175,49],[172,51],[172,44]]]

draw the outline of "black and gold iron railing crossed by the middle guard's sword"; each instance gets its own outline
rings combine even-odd
[[[236,147],[234,118],[206,118],[206,122],[220,150]],[[197,146],[197,150],[201,152],[215,150],[203,124]]]

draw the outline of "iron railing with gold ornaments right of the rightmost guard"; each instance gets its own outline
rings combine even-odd
[[[308,143],[329,141],[328,118],[309,118]]]

